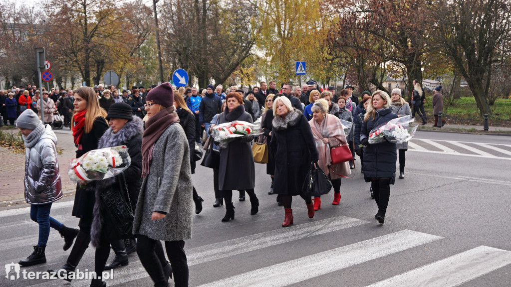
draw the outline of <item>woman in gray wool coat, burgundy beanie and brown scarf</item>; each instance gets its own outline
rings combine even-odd
[[[146,97],[149,117],[142,137],[142,188],[133,221],[136,252],[154,286],[166,287],[171,274],[162,268],[156,251],[165,248],[176,287],[188,286],[184,240],[192,237],[192,173],[190,147],[175,112],[170,83],[153,88]]]

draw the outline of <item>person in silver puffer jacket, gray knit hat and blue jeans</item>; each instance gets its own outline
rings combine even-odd
[[[39,242],[34,252],[21,266],[32,266],[46,262],[44,249],[48,243],[50,227],[64,237],[64,250],[73,244],[78,229],[65,227],[50,217],[52,203],[62,198],[59,163],[57,161],[57,137],[50,125],[43,125],[31,109],[21,113],[16,121],[25,140],[25,200],[30,203],[30,218],[39,224]]]

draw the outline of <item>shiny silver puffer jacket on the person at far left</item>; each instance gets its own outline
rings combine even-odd
[[[25,200],[40,205],[62,198],[57,137],[50,125],[34,129],[25,139]]]

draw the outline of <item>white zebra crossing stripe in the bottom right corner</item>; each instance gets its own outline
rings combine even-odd
[[[511,264],[511,251],[479,246],[368,287],[458,286]]]

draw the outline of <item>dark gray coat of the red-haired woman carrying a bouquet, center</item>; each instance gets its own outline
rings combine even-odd
[[[252,116],[243,112],[236,121],[252,123]],[[219,115],[218,124],[228,123],[225,112]],[[243,190],[255,187],[255,166],[250,141],[253,136],[235,139],[227,148],[220,149],[218,188],[220,190]]]

